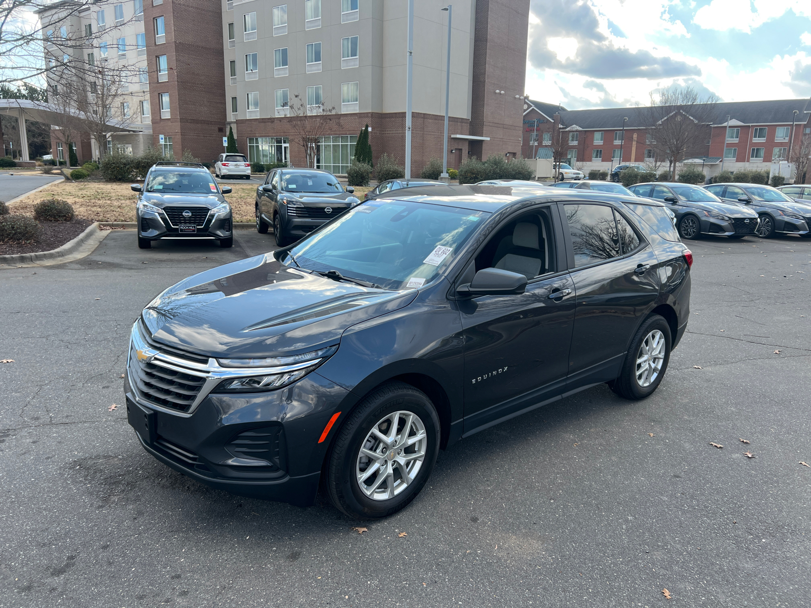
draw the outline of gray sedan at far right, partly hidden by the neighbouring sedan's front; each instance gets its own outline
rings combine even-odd
[[[776,233],[811,236],[811,204],[797,203],[777,188],[760,184],[710,184],[704,187],[724,201],[743,204],[756,212],[760,216],[758,237],[770,238]]]

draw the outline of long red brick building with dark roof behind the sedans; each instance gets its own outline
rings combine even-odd
[[[551,148],[551,133],[557,127],[567,131],[569,165],[578,165],[586,172],[610,171],[622,162],[667,169],[664,159],[654,158],[643,112],[640,108],[568,110],[526,100],[521,153],[528,158],[548,156],[549,152],[543,151]],[[759,169],[785,174],[789,169],[788,148],[793,146],[795,153],[799,152],[803,135],[811,136],[809,117],[809,99],[716,104],[702,154],[686,162],[702,166],[707,177],[719,173],[722,167],[729,171]],[[787,175],[787,181],[795,177]],[[806,180],[809,178],[806,175]]]

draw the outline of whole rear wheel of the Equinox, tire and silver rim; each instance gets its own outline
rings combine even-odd
[[[650,315],[637,329],[611,390],[625,399],[645,399],[662,382],[670,361],[672,336],[661,315]],[[642,363],[642,358],[646,358]]]

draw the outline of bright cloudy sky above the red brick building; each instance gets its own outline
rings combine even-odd
[[[567,109],[811,96],[811,0],[531,0],[526,92]]]

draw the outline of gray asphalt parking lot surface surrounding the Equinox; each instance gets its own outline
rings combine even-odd
[[[117,230],[85,259],[0,270],[0,608],[807,602],[811,239],[689,242],[691,319],[653,396],[594,387],[491,427],[362,524],[210,490],[127,425],[142,307],[273,246],[139,250]]]

